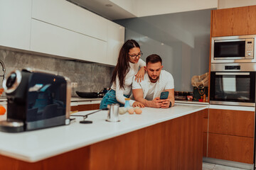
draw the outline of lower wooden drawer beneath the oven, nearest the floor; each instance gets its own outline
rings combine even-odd
[[[208,157],[253,164],[253,138],[208,134]]]

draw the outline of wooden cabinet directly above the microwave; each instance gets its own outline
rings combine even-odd
[[[256,34],[256,6],[212,11],[212,37]]]

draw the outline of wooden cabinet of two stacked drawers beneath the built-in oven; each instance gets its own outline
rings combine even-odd
[[[207,157],[253,164],[254,111],[209,109]]]

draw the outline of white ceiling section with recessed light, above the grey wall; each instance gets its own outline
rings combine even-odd
[[[67,0],[111,21],[217,8],[218,0]],[[108,5],[108,6],[106,6]]]

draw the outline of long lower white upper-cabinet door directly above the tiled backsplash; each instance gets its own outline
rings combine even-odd
[[[107,42],[32,19],[31,50],[102,63],[107,55]]]

